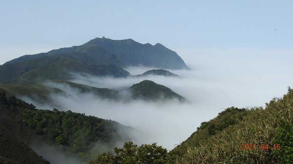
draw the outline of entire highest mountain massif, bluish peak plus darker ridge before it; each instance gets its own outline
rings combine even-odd
[[[0,83],[36,84],[48,79],[68,80],[71,73],[126,77],[122,67],[147,66],[188,69],[175,52],[157,43],[141,44],[132,39],[95,38],[69,48],[24,55],[0,65]]]

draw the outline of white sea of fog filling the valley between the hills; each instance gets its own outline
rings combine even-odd
[[[129,103],[101,100],[92,94],[82,94],[66,85],[59,85],[72,96],[52,95],[61,110],[94,115],[131,126],[144,133],[136,136],[136,144],[158,143],[168,150],[186,140],[203,121],[231,106],[246,108],[265,106],[273,97],[281,97],[292,86],[292,68],[286,53],[265,50],[197,50],[200,55],[185,55],[191,71],[169,70],[181,77],[149,75],[146,77],[93,77],[76,74],[72,82],[93,87],[119,90],[128,88],[145,79],[165,85],[184,96],[190,103],[176,100],[145,102],[135,100]],[[187,51],[182,51],[187,52]],[[209,54],[217,55],[209,55]],[[194,54],[194,53],[193,53]],[[151,68],[128,67],[132,75],[144,73]],[[50,84],[51,86],[54,84]],[[28,99],[26,101],[29,101]],[[34,102],[32,102],[34,103]],[[52,109],[40,105],[40,109]]]

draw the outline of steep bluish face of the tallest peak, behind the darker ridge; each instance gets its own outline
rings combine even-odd
[[[83,46],[97,44],[106,51],[116,54],[126,66],[155,67],[162,69],[188,69],[184,61],[174,51],[167,49],[160,43],[152,46],[141,44],[132,39],[112,40],[95,38]]]

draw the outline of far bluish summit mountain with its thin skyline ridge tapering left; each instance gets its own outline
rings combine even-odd
[[[36,55],[24,55],[7,63],[16,63],[22,60],[54,54],[72,55],[81,52],[89,54],[92,58],[94,58],[95,55],[101,54],[101,51],[110,56],[106,57],[111,59],[107,60],[108,62],[111,61],[112,63],[118,64],[122,67],[142,65],[163,69],[189,69],[179,55],[177,55],[174,51],[167,49],[160,43],[153,46],[149,43],[141,44],[132,39],[112,40],[105,37],[97,37],[80,46],[60,48],[58,50],[52,50],[47,53]],[[95,62],[95,60],[92,62]]]

